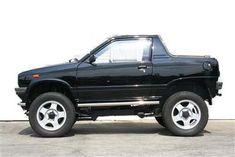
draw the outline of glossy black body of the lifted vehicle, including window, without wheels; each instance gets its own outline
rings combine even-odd
[[[27,114],[35,99],[54,92],[71,101],[74,121],[109,115],[165,121],[164,105],[176,93],[191,92],[212,104],[222,88],[219,76],[215,58],[175,56],[158,35],[126,35],[109,38],[80,60],[20,73],[16,93]]]

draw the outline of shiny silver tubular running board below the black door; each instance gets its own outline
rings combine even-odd
[[[101,107],[101,106],[143,106],[158,105],[159,101],[128,101],[128,102],[105,102],[105,103],[79,103],[78,107]]]

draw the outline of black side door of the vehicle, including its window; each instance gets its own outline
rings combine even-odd
[[[134,101],[150,94],[152,40],[111,40],[84,61],[77,72],[80,102]]]

